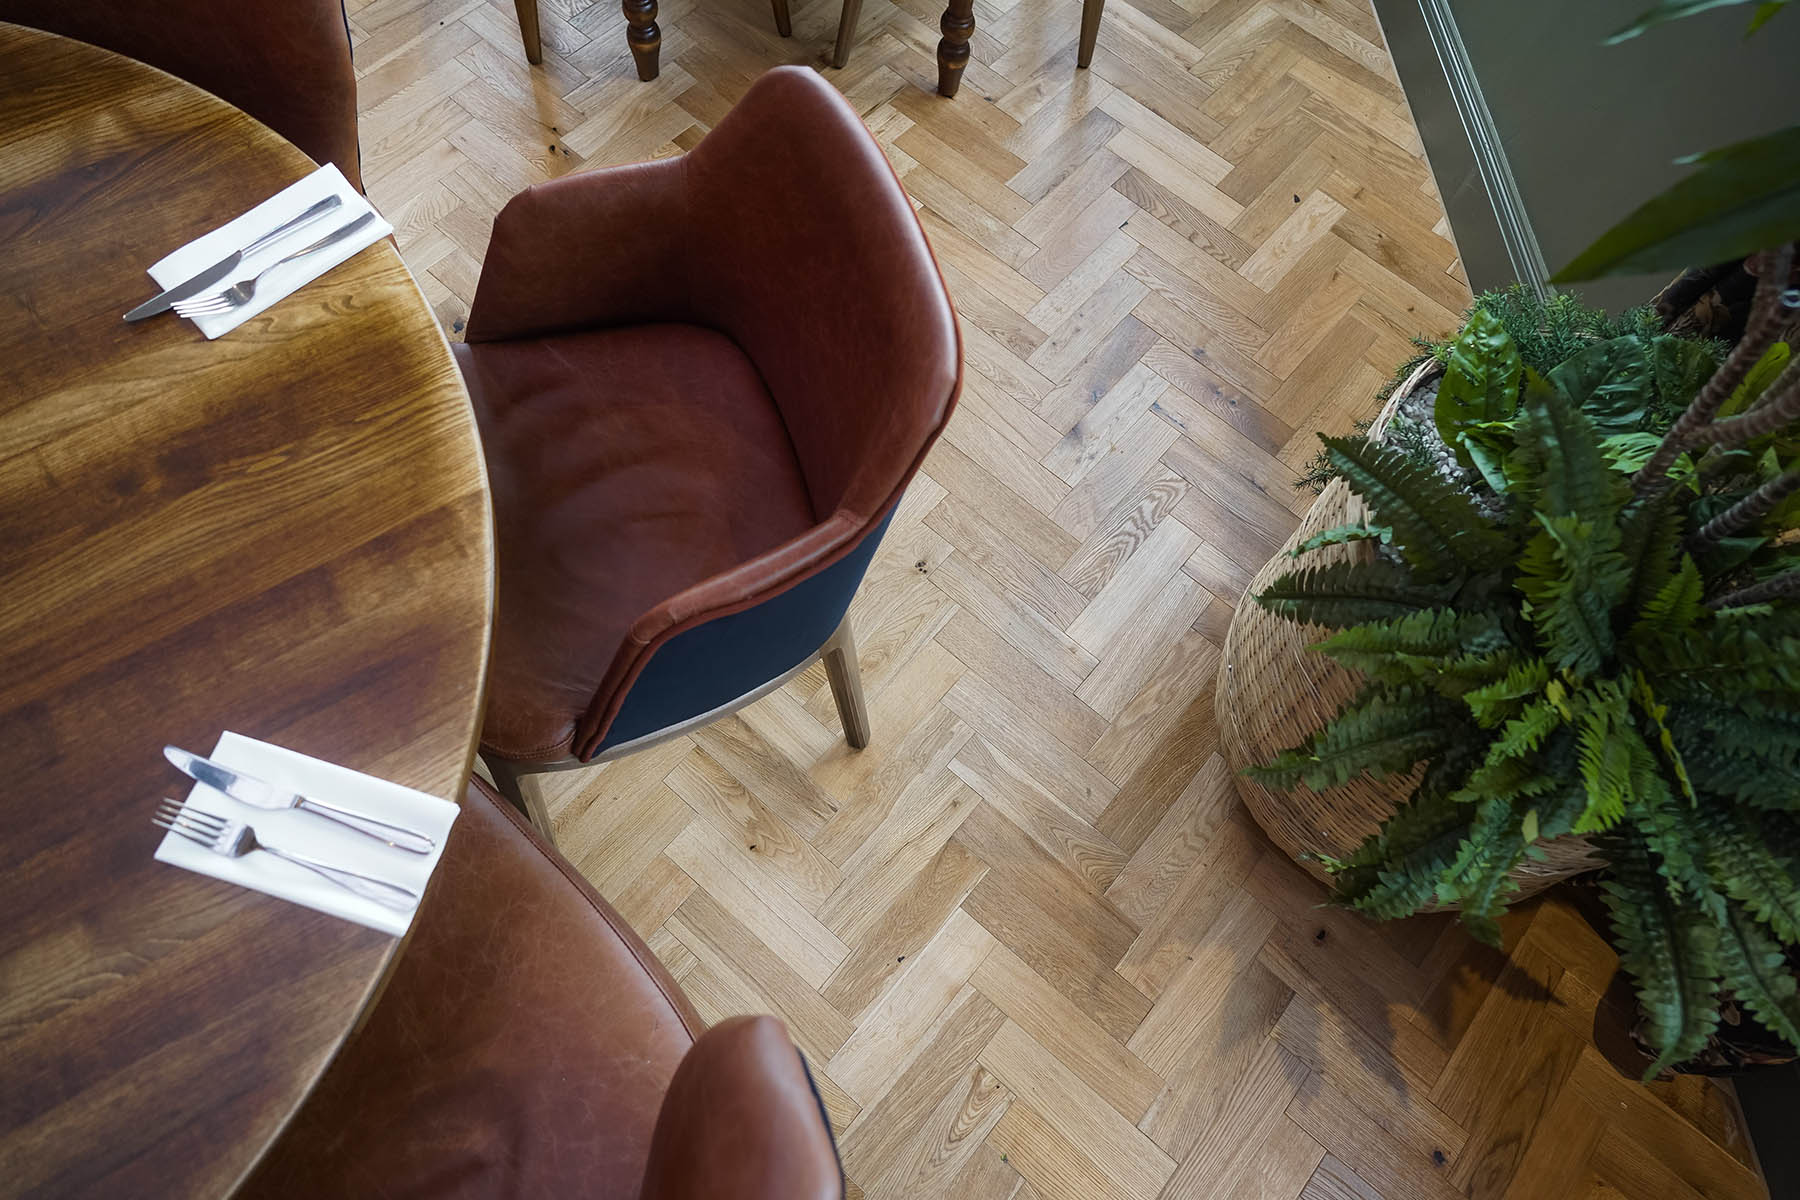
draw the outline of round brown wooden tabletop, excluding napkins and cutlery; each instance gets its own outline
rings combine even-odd
[[[196,36],[200,36],[196,32]],[[389,243],[218,342],[144,266],[313,169],[0,23],[0,1191],[225,1195],[400,943],[151,860],[221,729],[459,799],[493,534]]]

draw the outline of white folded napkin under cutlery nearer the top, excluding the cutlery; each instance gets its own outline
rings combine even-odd
[[[328,162],[304,180],[281,189],[238,219],[220,225],[211,234],[196,237],[175,254],[160,259],[149,268],[149,277],[157,281],[158,288],[173,288],[184,279],[193,279],[234,250],[243,250],[263,234],[279,228],[284,221],[292,221],[331,193],[337,193],[344,201],[331,212],[331,216],[283,237],[266,250],[259,250],[256,257],[245,259],[234,266],[230,275],[221,279],[216,286],[207,288],[202,295],[214,295],[239,279],[250,279],[265,266],[279,263],[288,254],[313,245],[331,230],[349,225],[364,212],[374,212],[374,207],[364,200],[362,193],[349,185],[344,173]],[[272,270],[266,279],[256,284],[256,299],[243,308],[234,308],[229,313],[218,313],[214,317],[194,317],[193,320],[200,327],[200,333],[207,335],[207,340],[216,338],[221,333],[230,333],[275,300],[281,300],[283,297],[310,284],[344,259],[373,246],[392,232],[394,227],[383,221],[378,214],[351,237],[346,237],[333,246],[326,246],[317,254],[308,254],[297,263],[283,263]]]

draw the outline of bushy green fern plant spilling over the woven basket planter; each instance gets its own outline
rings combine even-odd
[[[1336,900],[1381,919],[1456,903],[1498,941],[1514,867],[1589,837],[1649,1074],[1706,1043],[1721,988],[1800,1045],[1800,367],[1775,340],[1793,248],[1757,263],[1723,365],[1640,327],[1539,371],[1478,306],[1436,428],[1505,518],[1417,455],[1321,437],[1372,516],[1256,596],[1337,630],[1316,649],[1364,685],[1249,774],[1323,790],[1418,768],[1377,835],[1325,860]],[[1674,394],[1681,416],[1645,428]],[[1343,542],[1377,549],[1305,561]]]

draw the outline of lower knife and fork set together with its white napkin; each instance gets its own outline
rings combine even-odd
[[[157,808],[160,862],[407,932],[455,804],[234,732],[162,754],[194,786]]]

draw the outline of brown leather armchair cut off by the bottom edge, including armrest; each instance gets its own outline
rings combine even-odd
[[[706,1029],[637,934],[473,781],[369,1022],[241,1200],[839,1200],[772,1016]]]

